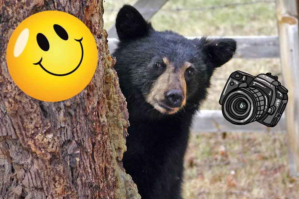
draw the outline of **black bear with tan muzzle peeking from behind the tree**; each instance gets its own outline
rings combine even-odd
[[[230,38],[189,40],[156,31],[132,6],[116,18],[114,69],[129,112],[123,165],[142,199],[181,196],[183,157],[192,117],[205,99],[215,68],[236,50]]]

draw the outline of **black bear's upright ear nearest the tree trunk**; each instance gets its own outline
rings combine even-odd
[[[118,12],[115,23],[119,40],[146,37],[152,29],[142,15],[131,5],[124,5]]]

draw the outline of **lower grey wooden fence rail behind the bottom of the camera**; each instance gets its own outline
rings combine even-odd
[[[278,124],[275,127],[267,127],[257,121],[245,124],[235,125],[227,121],[222,111],[219,110],[201,110],[193,118],[192,133],[200,132],[240,132],[240,133],[286,133],[285,114],[281,115]]]

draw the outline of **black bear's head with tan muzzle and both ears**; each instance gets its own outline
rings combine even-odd
[[[236,51],[230,38],[190,40],[169,30],[156,31],[130,5],[120,9],[115,25],[119,43],[114,68],[128,109],[135,106],[148,114],[197,109],[214,69]]]

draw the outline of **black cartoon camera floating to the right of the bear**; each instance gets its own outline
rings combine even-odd
[[[222,114],[232,124],[245,125],[258,121],[274,127],[288,101],[288,90],[271,73],[252,76],[233,72],[222,91],[219,104]]]

